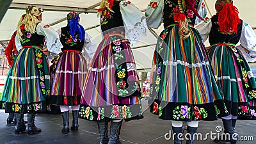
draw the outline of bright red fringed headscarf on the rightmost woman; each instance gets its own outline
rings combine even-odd
[[[217,0],[215,10],[222,33],[237,33],[237,25],[241,23],[239,12],[232,0]]]

